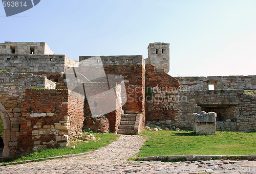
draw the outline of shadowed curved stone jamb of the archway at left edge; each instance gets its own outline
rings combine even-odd
[[[9,142],[11,140],[11,123],[5,107],[0,103],[0,114],[4,125],[4,150],[2,158],[8,158],[10,156]]]

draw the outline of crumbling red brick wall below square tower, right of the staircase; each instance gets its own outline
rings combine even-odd
[[[146,98],[146,120],[173,120],[173,96],[178,94],[179,82],[163,71],[156,72],[153,65],[146,65],[146,87],[151,87],[154,97]]]

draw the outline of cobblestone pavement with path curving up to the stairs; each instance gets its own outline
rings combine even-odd
[[[126,161],[139,152],[144,141],[142,136],[121,135],[84,156],[1,166],[0,173],[256,173],[256,161]]]

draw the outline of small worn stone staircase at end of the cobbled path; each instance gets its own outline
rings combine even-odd
[[[137,114],[122,114],[118,134],[134,134],[134,126]]]

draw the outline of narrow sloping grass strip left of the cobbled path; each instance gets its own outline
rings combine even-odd
[[[98,133],[92,133],[96,141],[89,141],[88,143],[76,143],[75,148],[71,148],[72,145],[70,144],[67,147],[63,148],[49,148],[44,149],[38,152],[33,152],[29,155],[22,156],[18,159],[11,159],[6,160],[3,163],[9,163],[9,162],[18,162],[18,161],[25,161],[25,160],[33,160],[33,159],[39,159],[39,158],[48,158],[48,157],[55,157],[55,156],[61,156],[61,155],[69,155],[69,154],[79,154],[84,153],[88,151],[97,150],[99,147],[106,146],[110,144],[113,141],[116,141],[118,135],[115,134],[98,134]]]

